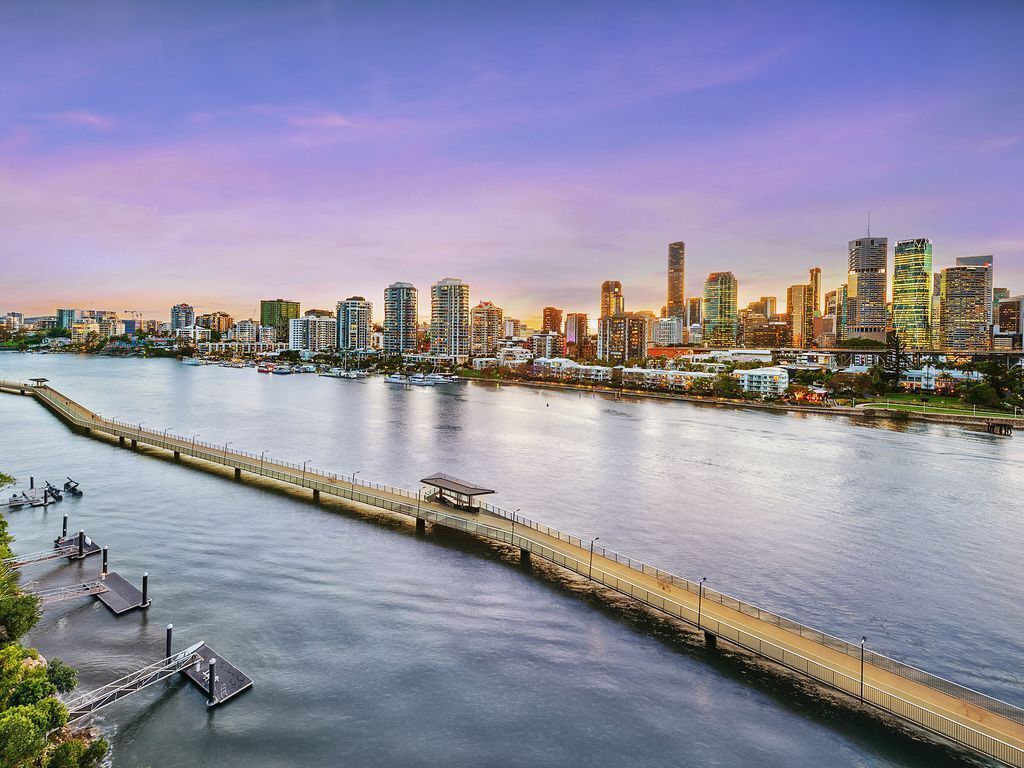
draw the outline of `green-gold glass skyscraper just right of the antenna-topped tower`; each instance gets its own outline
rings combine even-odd
[[[898,241],[893,262],[893,330],[911,349],[927,349],[931,327],[932,241]]]

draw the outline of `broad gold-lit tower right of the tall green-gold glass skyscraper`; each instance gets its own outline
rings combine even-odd
[[[943,349],[983,350],[991,346],[991,267],[983,264],[942,270],[939,332]]]

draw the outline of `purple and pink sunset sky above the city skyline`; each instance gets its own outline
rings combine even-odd
[[[741,305],[847,242],[1024,292],[1024,3],[0,3],[0,311],[258,316],[460,278]],[[380,319],[380,317],[378,317]]]

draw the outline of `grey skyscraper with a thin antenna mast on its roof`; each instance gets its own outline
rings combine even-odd
[[[886,265],[888,238],[860,238],[849,244],[847,338],[886,340],[889,325]]]

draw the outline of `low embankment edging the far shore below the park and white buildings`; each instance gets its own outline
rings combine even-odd
[[[739,410],[772,411],[776,413],[793,414],[816,414],[823,416],[844,416],[852,419],[888,419],[894,422],[905,421],[927,421],[933,424],[955,424],[964,427],[986,428],[993,422],[999,424],[1024,424],[1024,419],[1014,417],[982,417],[982,416],[961,416],[955,414],[923,414],[905,409],[887,409],[884,403],[871,404],[870,408],[852,408],[849,406],[796,406],[784,402],[757,402],[755,400],[730,400],[724,397],[700,397],[697,395],[682,394],[676,392],[652,392],[636,389],[620,389],[616,387],[602,387],[591,384],[572,384],[569,382],[555,381],[524,381],[521,379],[484,379],[468,377],[467,381],[479,384],[505,385],[512,384],[521,387],[532,387],[535,389],[557,389],[571,392],[590,392],[592,394],[610,394],[616,397],[630,397],[636,399],[658,399],[658,400],[681,400],[693,402],[698,406],[717,406]]]

